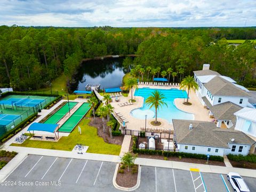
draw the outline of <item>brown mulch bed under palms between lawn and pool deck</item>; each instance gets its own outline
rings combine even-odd
[[[115,136],[115,137],[113,136],[113,139],[111,139],[109,134],[109,129],[107,126],[106,126],[106,133],[103,133],[102,119],[100,117],[95,117],[95,123],[94,123],[93,117],[91,117],[90,119],[91,121],[89,125],[96,127],[98,129],[99,137],[102,137],[105,142],[116,144],[116,145],[122,145],[124,140],[124,135]]]

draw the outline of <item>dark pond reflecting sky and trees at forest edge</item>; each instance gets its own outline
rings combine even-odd
[[[71,91],[85,91],[88,83],[100,84],[100,89],[121,86],[126,73],[122,66],[123,60],[124,58],[107,58],[83,62],[70,85]]]

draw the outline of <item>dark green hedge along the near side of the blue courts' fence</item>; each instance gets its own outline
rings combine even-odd
[[[24,127],[26,127],[29,123],[31,123],[32,121],[34,121],[34,119],[37,117],[37,113],[34,113],[33,115],[31,115],[30,117],[26,118],[25,120],[23,120],[22,122],[20,122],[20,124],[18,124],[17,126],[14,127],[14,129],[6,132],[5,134],[2,135],[2,137],[0,137],[0,141],[4,142],[10,138],[13,137],[14,134],[18,133],[20,130],[22,130]]]

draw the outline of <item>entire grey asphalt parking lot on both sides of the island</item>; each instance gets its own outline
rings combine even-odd
[[[29,155],[0,191],[119,191],[113,186],[115,167],[110,162]],[[234,191],[226,175],[198,171],[141,166],[140,186],[135,191]],[[244,179],[256,191],[256,179]]]

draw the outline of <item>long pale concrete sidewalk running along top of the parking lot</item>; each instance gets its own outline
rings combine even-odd
[[[14,146],[8,147],[7,150],[17,151],[18,153],[21,153],[21,154],[33,154],[33,155],[44,155],[44,156],[77,158],[77,159],[90,159],[95,161],[107,161],[107,162],[114,162],[114,163],[120,162],[120,156],[117,156],[117,155],[104,155],[104,154],[92,154],[92,153],[85,153],[81,155],[71,151],[14,147]],[[207,173],[227,174],[228,172],[237,172],[240,175],[245,177],[256,178],[256,170],[242,169],[242,168],[235,168],[235,167],[164,161],[164,160],[150,159],[150,158],[137,158],[135,160],[135,163],[139,165],[145,165],[145,166],[166,167],[166,168],[180,169],[180,170],[187,170],[187,171],[189,171],[192,168],[192,169],[199,169],[200,172],[207,172]],[[1,174],[1,171],[0,171],[0,174]]]

